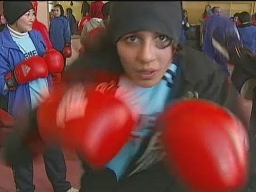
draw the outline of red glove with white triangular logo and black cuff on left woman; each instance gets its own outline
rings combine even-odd
[[[13,71],[5,75],[5,83],[9,90],[14,91],[21,84],[48,76],[48,69],[43,58],[39,56],[20,62]]]

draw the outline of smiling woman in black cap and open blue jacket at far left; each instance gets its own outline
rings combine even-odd
[[[8,98],[6,110],[15,119],[26,118],[28,111],[35,108],[45,94],[49,94],[52,84],[49,74],[46,73],[45,78],[37,74],[38,67],[42,69],[44,66],[36,61],[45,54],[46,45],[41,34],[32,30],[35,12],[31,2],[3,2],[3,8],[8,25],[0,35],[0,93]],[[20,74],[17,68],[22,69]],[[22,73],[23,79],[20,77]],[[28,76],[33,76],[33,80],[26,81]],[[19,151],[17,162],[12,164],[17,191],[34,191],[30,150],[22,145]],[[54,190],[71,191],[71,185],[66,181],[66,164],[61,149],[46,150],[43,157]],[[28,161],[21,161],[22,158]]]

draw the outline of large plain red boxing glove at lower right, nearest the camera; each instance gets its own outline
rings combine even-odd
[[[167,164],[195,192],[239,191],[247,182],[249,142],[242,123],[212,102],[188,100],[163,114]]]

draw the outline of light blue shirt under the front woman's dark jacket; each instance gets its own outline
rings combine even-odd
[[[173,84],[173,76],[177,66],[173,63],[166,71],[163,79],[153,87],[140,87],[129,79],[121,77],[116,97],[120,98],[130,107],[133,115],[138,119],[138,127],[132,132],[131,138],[123,149],[107,165],[113,170],[119,180],[134,156],[141,148],[143,141],[155,132],[156,118],[163,111]]]

